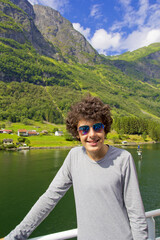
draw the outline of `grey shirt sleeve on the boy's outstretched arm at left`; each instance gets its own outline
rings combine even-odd
[[[5,240],[27,239],[34,229],[49,215],[71,185],[70,154],[68,154],[47,191],[38,199],[22,222],[5,237]]]

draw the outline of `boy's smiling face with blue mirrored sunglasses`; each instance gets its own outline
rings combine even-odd
[[[88,156],[95,161],[100,160],[104,157],[107,147],[106,145],[104,145],[104,126],[103,124],[97,125],[97,123],[101,123],[101,121],[87,121],[85,119],[82,119],[78,122],[77,126],[79,138],[82,145],[85,147]],[[87,126],[89,126],[89,128]],[[83,129],[84,131],[82,131]]]

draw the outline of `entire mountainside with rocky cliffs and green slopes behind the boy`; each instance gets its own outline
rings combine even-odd
[[[159,121],[159,50],[156,44],[106,58],[57,11],[0,0],[0,120],[61,123],[90,92],[114,117]]]

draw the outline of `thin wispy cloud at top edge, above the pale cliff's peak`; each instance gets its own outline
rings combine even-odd
[[[65,8],[68,7],[69,0],[28,0],[31,4],[40,4],[49,6],[57,11],[63,13]]]

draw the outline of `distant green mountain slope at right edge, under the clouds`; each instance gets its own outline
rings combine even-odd
[[[128,76],[160,87],[160,43],[106,59]]]

